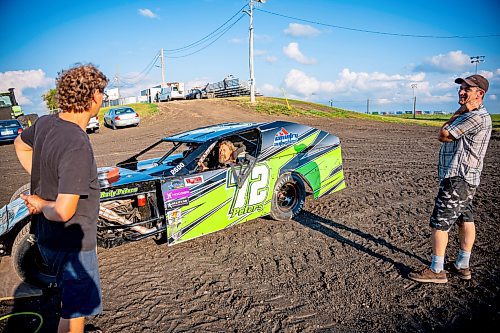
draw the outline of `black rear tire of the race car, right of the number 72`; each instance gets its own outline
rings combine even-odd
[[[274,220],[289,221],[304,206],[306,189],[302,179],[293,173],[281,175],[274,186],[270,216]]]

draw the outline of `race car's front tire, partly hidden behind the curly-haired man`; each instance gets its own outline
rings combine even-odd
[[[35,235],[30,233],[31,223],[27,223],[17,234],[12,245],[12,267],[21,280],[34,286],[45,288],[55,285],[56,277],[48,273]]]

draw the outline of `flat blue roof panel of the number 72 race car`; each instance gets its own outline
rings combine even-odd
[[[163,138],[163,141],[174,142],[206,142],[219,137],[254,129],[263,123],[224,123],[207,127],[197,128],[192,131],[179,133]]]

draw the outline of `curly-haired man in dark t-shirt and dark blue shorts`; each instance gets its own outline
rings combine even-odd
[[[85,316],[102,311],[96,255],[99,183],[85,131],[102,104],[108,79],[94,65],[76,65],[57,77],[60,113],[41,117],[15,140],[31,175],[22,196],[40,254],[61,290],[59,332],[83,332]]]

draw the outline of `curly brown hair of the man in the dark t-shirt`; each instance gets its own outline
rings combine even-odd
[[[92,64],[77,64],[58,73],[57,103],[62,111],[84,112],[90,109],[96,91],[104,92],[108,78]]]

